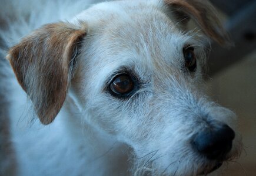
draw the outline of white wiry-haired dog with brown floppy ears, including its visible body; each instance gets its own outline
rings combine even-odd
[[[240,155],[205,93],[207,41],[230,41],[210,2],[6,3],[16,175],[207,175]]]

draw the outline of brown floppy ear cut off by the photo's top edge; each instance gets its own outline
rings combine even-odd
[[[207,0],[164,0],[169,8],[174,9],[177,18],[192,18],[202,31],[220,45],[230,44],[216,9]]]

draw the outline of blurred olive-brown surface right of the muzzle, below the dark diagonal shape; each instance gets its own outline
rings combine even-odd
[[[256,175],[256,52],[208,80],[211,97],[238,115],[244,151],[220,175]]]

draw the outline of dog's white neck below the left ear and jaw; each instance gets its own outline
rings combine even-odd
[[[19,94],[25,99],[24,92]],[[13,107],[12,117],[21,116],[23,106]],[[26,126],[25,120],[12,119],[21,175],[129,175],[124,173],[129,167],[128,148],[82,120],[86,116],[67,96],[62,110],[48,126],[42,126],[39,120]],[[38,165],[41,167],[33,169]]]

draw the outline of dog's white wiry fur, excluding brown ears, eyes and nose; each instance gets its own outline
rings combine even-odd
[[[28,123],[26,94],[14,75],[8,77],[18,175],[195,175],[216,164],[195,153],[189,140],[207,120],[235,130],[236,117],[205,96],[204,43],[179,29],[162,11],[162,1],[103,2],[87,11],[82,10],[91,1],[4,4],[1,13],[8,29],[0,35],[8,47],[44,23],[65,19],[88,24],[78,58],[79,83],[71,83],[53,123]],[[179,69],[186,43],[198,56],[194,76]],[[132,67],[144,80],[143,88],[127,101],[104,92],[108,77],[122,66]],[[237,136],[230,155],[239,150]]]

